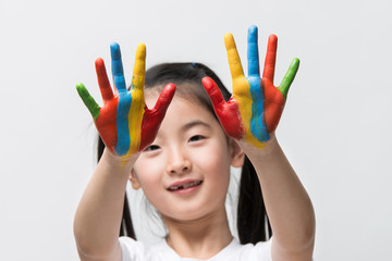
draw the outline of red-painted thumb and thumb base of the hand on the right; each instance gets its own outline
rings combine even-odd
[[[233,97],[226,102],[223,99],[219,87],[210,77],[204,77],[201,83],[211,99],[213,110],[216,111],[224,132],[230,137],[241,140],[244,135],[244,127],[242,125],[238,103]]]

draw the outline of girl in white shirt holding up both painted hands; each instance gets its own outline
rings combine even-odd
[[[232,97],[201,64],[161,64],[147,71],[145,83],[144,45],[136,51],[131,90],[117,44],[114,94],[103,61],[96,61],[102,108],[76,86],[106,145],[75,215],[81,260],[311,260],[313,206],[274,135],[299,62],[294,59],[277,88],[275,36],[269,38],[262,78],[257,27],[248,32],[248,77],[233,36],[224,41]],[[241,244],[224,208],[231,165],[243,166]],[[134,189],[143,188],[168,229],[148,250],[130,237],[119,239],[128,179]],[[264,208],[273,234],[268,241]]]

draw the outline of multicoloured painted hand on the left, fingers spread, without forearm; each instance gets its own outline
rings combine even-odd
[[[99,89],[103,99],[100,108],[86,87],[78,83],[76,89],[91,113],[95,125],[106,147],[115,156],[127,158],[151,144],[173,98],[175,86],[169,84],[150,110],[144,100],[146,47],[136,50],[131,89],[125,86],[120,46],[110,46],[114,94],[111,89],[103,60],[95,62]]]

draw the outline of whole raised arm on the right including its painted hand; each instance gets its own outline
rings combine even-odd
[[[223,128],[238,140],[256,169],[273,231],[273,260],[310,260],[315,239],[311,202],[274,136],[299,60],[293,60],[277,88],[275,36],[269,38],[262,78],[257,27],[249,27],[248,33],[248,77],[244,76],[233,36],[225,35],[224,41],[233,79],[232,98],[225,102],[210,78],[204,78],[203,84]]]

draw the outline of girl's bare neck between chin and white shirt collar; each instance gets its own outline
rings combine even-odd
[[[233,239],[224,206],[207,216],[179,221],[162,216],[168,229],[168,245],[183,258],[209,259]]]

